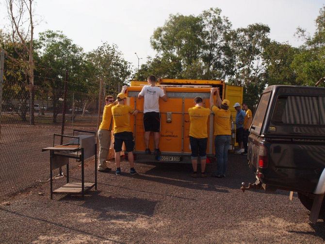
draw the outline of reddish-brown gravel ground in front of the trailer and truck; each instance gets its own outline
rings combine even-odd
[[[0,243],[325,243],[323,220],[309,225],[296,195],[243,193],[241,182],[254,182],[244,162],[229,155],[224,179],[193,179],[191,165],[163,163],[137,164],[140,174],[130,176],[122,162],[121,176],[98,173],[97,192],[83,199],[50,200],[45,183],[0,203]],[[93,167],[86,164],[89,180]],[[78,167],[70,175],[80,179]]]

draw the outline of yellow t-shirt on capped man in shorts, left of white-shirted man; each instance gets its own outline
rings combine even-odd
[[[134,110],[128,105],[117,104],[112,108],[114,119],[114,133],[132,131],[130,127],[130,116]]]

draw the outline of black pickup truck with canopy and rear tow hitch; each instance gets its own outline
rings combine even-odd
[[[245,187],[298,193],[325,218],[325,88],[273,85],[260,96],[248,138],[247,159],[257,181]]]

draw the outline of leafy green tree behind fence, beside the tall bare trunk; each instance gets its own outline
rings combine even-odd
[[[70,91],[87,93],[92,90],[94,81],[87,79],[87,71],[91,68],[84,60],[83,49],[62,32],[39,33],[38,45],[41,56],[38,69],[40,76],[45,77],[42,88],[51,91],[49,96],[53,105],[53,123],[56,123],[57,115],[62,111],[59,99],[64,93],[65,71],[69,74]]]

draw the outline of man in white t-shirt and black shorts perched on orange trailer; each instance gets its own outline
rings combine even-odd
[[[144,101],[144,116],[143,123],[145,126],[145,144],[146,154],[150,154],[149,138],[152,131],[155,139],[155,155],[160,154],[160,113],[159,113],[159,98],[167,101],[166,87],[159,88],[156,86],[156,77],[149,75],[148,85],[145,85],[138,95],[138,98],[145,98]]]

